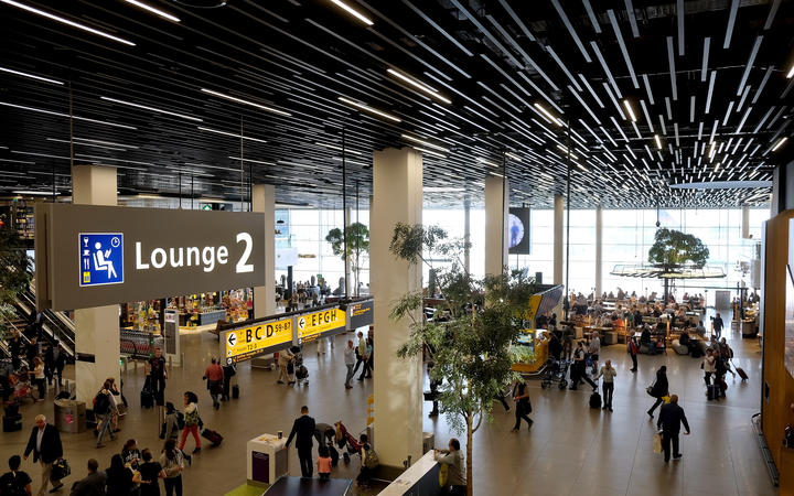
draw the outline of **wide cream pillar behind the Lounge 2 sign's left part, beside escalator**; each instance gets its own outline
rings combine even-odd
[[[115,206],[116,168],[72,168],[72,202],[78,205]],[[119,384],[119,305],[75,309],[75,381],[77,401],[92,408],[94,395],[108,377]],[[83,359],[81,359],[82,357]]]

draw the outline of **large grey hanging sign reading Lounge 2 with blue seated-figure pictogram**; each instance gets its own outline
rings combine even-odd
[[[265,254],[265,214],[68,204],[35,208],[40,309],[265,285],[265,262],[273,263],[272,254]]]

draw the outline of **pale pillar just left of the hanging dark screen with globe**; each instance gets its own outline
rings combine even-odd
[[[507,214],[509,190],[507,179],[496,175],[485,177],[485,273],[502,273],[507,263]]]

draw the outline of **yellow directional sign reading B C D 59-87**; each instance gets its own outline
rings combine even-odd
[[[224,341],[227,364],[275,352],[292,343],[292,319],[259,322],[249,327],[227,331]]]

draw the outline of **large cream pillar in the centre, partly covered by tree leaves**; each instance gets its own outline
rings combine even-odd
[[[403,461],[419,460],[422,444],[421,357],[401,359],[397,349],[408,339],[409,320],[389,317],[391,305],[406,293],[421,291],[422,267],[408,266],[390,251],[397,223],[422,222],[422,159],[410,149],[387,148],[373,154],[369,212],[369,284],[375,295],[375,445],[380,464],[403,470]],[[421,319],[419,312],[416,315]]]

